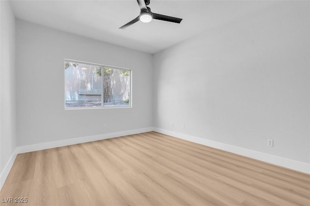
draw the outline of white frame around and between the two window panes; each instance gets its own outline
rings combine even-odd
[[[115,108],[132,108],[132,69],[127,69],[127,68],[122,68],[122,67],[116,67],[116,66],[109,66],[109,65],[105,65],[105,64],[98,64],[98,63],[91,63],[91,62],[87,62],[87,61],[79,61],[79,60],[73,60],[73,59],[64,59],[63,61],[63,68],[65,68],[65,64],[66,62],[74,62],[74,63],[79,63],[79,64],[89,64],[89,65],[93,65],[93,66],[98,66],[101,67],[101,107],[66,107],[66,74],[65,74],[65,69],[64,69],[64,109],[65,110],[75,110],[75,109],[115,109]],[[104,67],[109,67],[112,69],[118,69],[118,70],[124,70],[124,71],[128,71],[130,73],[130,95],[129,95],[129,106],[116,106],[116,105],[111,105],[111,106],[105,106],[104,105]]]

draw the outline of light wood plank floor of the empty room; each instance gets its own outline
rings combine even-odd
[[[21,206],[310,206],[310,175],[146,132],[19,154],[0,197],[27,197]]]

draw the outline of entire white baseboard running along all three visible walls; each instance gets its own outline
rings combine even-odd
[[[7,176],[9,175],[9,172],[13,166],[13,163],[16,159],[17,154],[31,152],[31,151],[38,151],[42,149],[49,149],[49,148],[54,148],[54,147],[62,147],[62,146],[80,144],[80,143],[85,143],[85,142],[92,142],[92,141],[109,139],[113,137],[120,137],[120,136],[131,135],[131,134],[137,134],[137,133],[142,133],[142,132],[151,132],[151,131],[167,134],[173,137],[188,140],[190,142],[195,142],[201,145],[206,145],[209,147],[222,149],[225,151],[233,152],[235,154],[243,155],[243,156],[253,158],[256,160],[260,160],[263,162],[272,163],[275,165],[283,166],[286,168],[290,168],[293,170],[297,170],[300,172],[310,174],[310,164],[305,163],[305,162],[298,162],[298,161],[294,161],[294,160],[290,160],[290,159],[286,159],[286,158],[282,158],[282,157],[278,157],[278,156],[274,156],[274,155],[270,155],[270,154],[266,154],[262,152],[257,152],[257,151],[242,148],[242,147],[235,147],[232,145],[227,145],[227,144],[216,142],[216,141],[211,141],[211,140],[203,139],[200,137],[183,134],[183,133],[172,132],[172,131],[164,130],[160,128],[148,127],[148,128],[141,128],[141,129],[136,129],[136,130],[113,132],[113,133],[99,134],[99,135],[93,135],[93,136],[86,136],[86,137],[79,137],[79,138],[72,138],[72,139],[66,139],[66,140],[60,140],[60,141],[54,141],[54,142],[47,142],[47,143],[16,147],[10,160],[6,163],[3,171],[0,174],[0,191]]]

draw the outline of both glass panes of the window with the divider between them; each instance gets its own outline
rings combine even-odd
[[[65,108],[131,107],[131,70],[65,60]]]

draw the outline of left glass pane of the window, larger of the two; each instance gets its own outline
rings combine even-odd
[[[101,107],[101,67],[65,61],[65,107]]]

